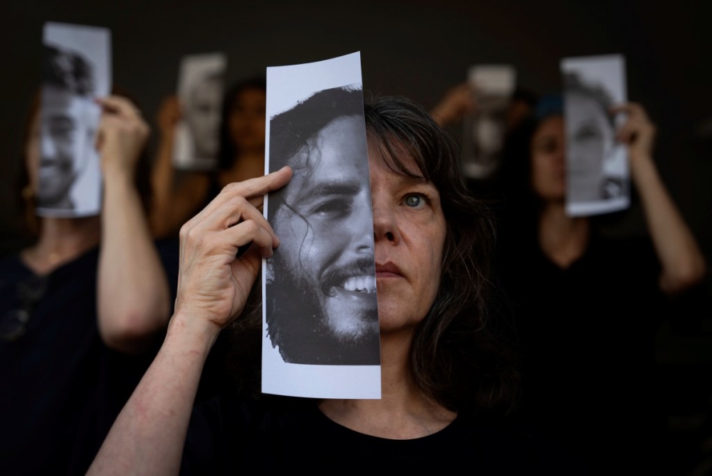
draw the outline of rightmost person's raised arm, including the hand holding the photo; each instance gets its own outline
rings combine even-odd
[[[628,144],[632,181],[662,265],[660,288],[668,295],[683,292],[703,279],[706,263],[656,169],[652,157],[655,125],[644,108],[634,102],[614,107],[612,112],[628,115],[617,138]]]

